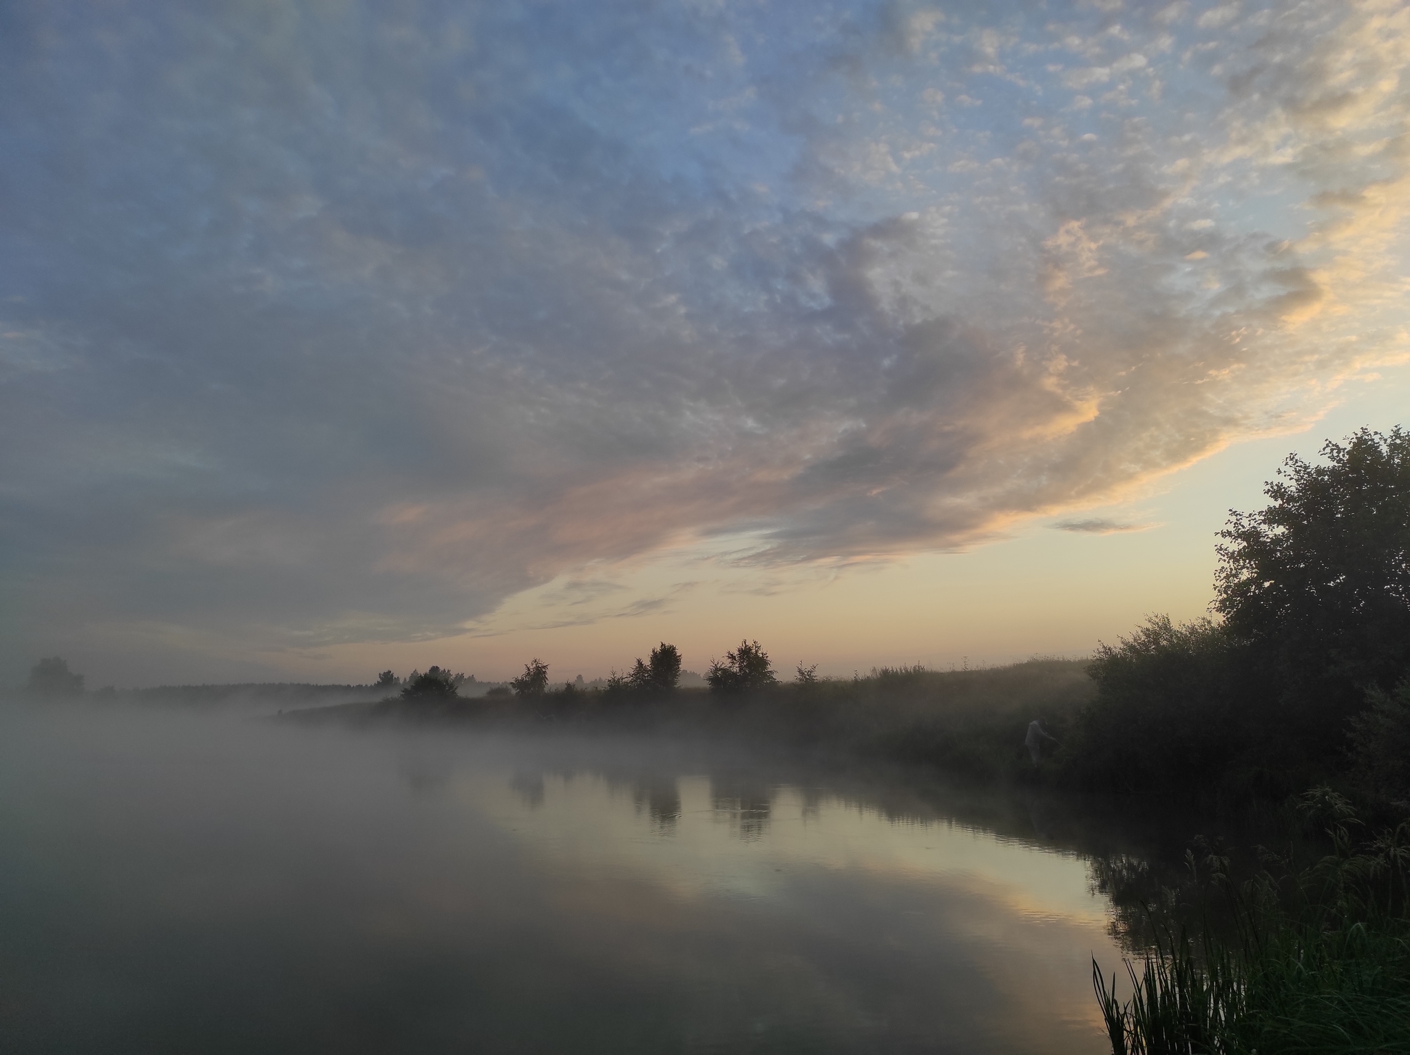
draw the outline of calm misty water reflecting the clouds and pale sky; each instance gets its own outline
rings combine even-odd
[[[1104,1052],[1045,804],[649,739],[0,714],[16,1052]]]

